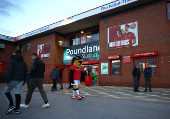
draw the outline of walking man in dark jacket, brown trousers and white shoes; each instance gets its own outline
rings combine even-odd
[[[40,91],[40,94],[41,94],[43,100],[44,100],[44,105],[42,107],[47,108],[50,105],[48,103],[47,95],[43,89],[45,64],[43,61],[41,61],[38,58],[38,55],[36,53],[32,53],[31,58],[34,60],[31,64],[31,71],[30,71],[31,81],[30,81],[28,92],[26,94],[25,102],[24,102],[24,104],[21,104],[20,107],[22,107],[22,108],[29,107],[29,103],[31,101],[32,94],[33,94],[35,88],[37,87]]]

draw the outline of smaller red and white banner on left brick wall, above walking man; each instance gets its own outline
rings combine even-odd
[[[38,45],[37,55],[40,59],[50,58],[50,43]]]

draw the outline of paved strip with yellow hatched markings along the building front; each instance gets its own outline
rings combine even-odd
[[[0,84],[0,88],[4,87],[5,84]],[[63,84],[64,89],[60,90],[58,84],[58,90],[55,91],[57,94],[71,95],[72,89],[67,89],[68,84]],[[51,92],[52,84],[44,84],[46,92]],[[144,88],[140,87],[141,92],[134,92],[133,87],[118,87],[118,86],[85,86],[80,85],[80,93],[84,96],[95,96],[95,97],[111,97],[116,99],[128,99],[128,100],[143,100],[152,102],[170,102],[170,89],[165,88],[152,88],[153,92],[143,92]],[[23,87],[23,91],[27,91],[27,87]],[[36,89],[35,91],[38,91]]]

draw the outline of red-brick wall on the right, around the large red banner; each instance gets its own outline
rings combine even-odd
[[[107,28],[138,22],[138,46],[107,49]],[[108,56],[130,56],[131,53],[158,51],[160,75],[152,76],[152,87],[170,88],[170,22],[167,22],[166,3],[153,5],[100,21],[100,65],[109,63]],[[100,67],[99,67],[100,68]],[[132,63],[121,63],[121,76],[100,74],[100,85],[133,86]],[[144,77],[141,85],[144,86]]]

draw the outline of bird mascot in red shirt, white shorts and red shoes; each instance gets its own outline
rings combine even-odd
[[[81,96],[79,93],[80,81],[84,82],[85,80],[84,73],[81,70],[82,62],[83,59],[80,56],[73,57],[69,73],[70,82],[73,86],[73,95],[71,98],[77,98],[78,100],[84,98],[84,96]]]

